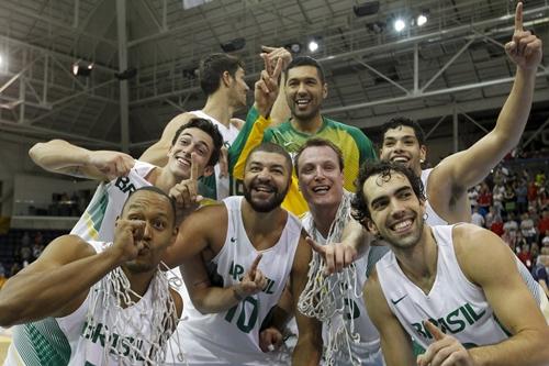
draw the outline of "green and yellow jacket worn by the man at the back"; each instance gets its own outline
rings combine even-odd
[[[248,147],[248,135],[251,135],[253,125],[260,122],[261,118],[255,108],[251,108],[246,118],[246,126],[243,129],[237,141],[234,143],[234,148],[232,149],[231,159],[233,160],[232,167],[234,177],[236,179],[243,179],[244,176],[244,163],[247,158]],[[322,127],[315,134],[305,134],[293,129],[290,121],[285,121],[276,127],[268,127],[265,130],[265,134],[261,140],[256,140],[253,136],[255,143],[259,145],[261,142],[272,142],[278,144],[293,156],[296,154],[298,149],[303,145],[303,143],[311,137],[322,137],[332,141],[334,144],[339,146],[344,156],[345,163],[345,189],[352,191],[355,189],[355,179],[358,176],[358,170],[360,165],[367,159],[374,159],[376,152],[371,141],[363,134],[359,129],[347,125],[340,122],[336,122],[326,117],[323,117]],[[253,147],[253,146],[251,146]],[[238,192],[242,195],[242,192]],[[309,210],[307,204],[301,195],[298,187],[298,177],[295,171],[292,174],[292,182],[290,189],[282,202],[282,208],[288,211],[301,215]]]

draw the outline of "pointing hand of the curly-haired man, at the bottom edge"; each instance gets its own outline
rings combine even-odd
[[[435,342],[417,356],[417,366],[473,366],[473,359],[463,345],[453,336],[442,333],[432,322],[424,322]]]

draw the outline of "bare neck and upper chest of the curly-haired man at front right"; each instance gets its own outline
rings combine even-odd
[[[425,293],[429,292],[437,275],[438,246],[430,226],[424,225],[419,242],[411,248],[392,246],[404,275]]]

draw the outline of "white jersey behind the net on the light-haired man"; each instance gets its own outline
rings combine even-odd
[[[322,234],[314,228],[313,217],[311,212],[307,212],[303,219],[303,228],[307,230],[309,234],[320,244],[325,245],[326,239],[322,236]],[[311,230],[312,229],[312,230]],[[336,237],[335,240],[340,240],[340,237]],[[360,342],[350,343],[352,355],[360,359],[360,365],[383,365],[382,355],[381,355],[381,341],[380,335],[376,326],[373,325],[368,312],[366,310],[366,303],[362,296],[361,289],[363,288],[366,280],[368,279],[367,273],[369,273],[369,268],[376,265],[376,262],[379,260],[381,256],[383,256],[389,251],[386,246],[370,246],[368,252],[362,255],[360,258],[355,260],[355,268],[357,280],[356,284],[358,288],[354,291],[352,298],[348,298],[344,300],[345,309],[343,313],[337,312],[334,319],[334,328],[338,328],[338,323],[344,322],[345,320],[354,319],[354,330],[352,333],[357,333],[360,336]],[[335,280],[335,277],[332,276]],[[343,293],[340,293],[341,289],[339,287],[332,287],[335,291],[339,293],[336,295],[336,298],[340,298]],[[347,293],[347,291],[345,291]],[[345,325],[349,332],[350,323],[345,321]],[[322,337],[324,341],[324,345],[327,344],[327,332],[329,330],[326,329],[325,323],[323,323],[322,328]],[[347,350],[340,350],[337,356],[337,365],[351,365],[350,359],[347,355]]]

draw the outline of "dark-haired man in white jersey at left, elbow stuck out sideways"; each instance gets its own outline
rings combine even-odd
[[[102,181],[71,234],[85,241],[112,241],[114,220],[130,192],[139,187],[155,186],[169,192],[178,202],[178,213],[193,210],[200,200],[197,178],[213,173],[222,144],[217,129],[197,118],[173,134],[163,168],[123,153],[91,152],[60,140],[38,143],[29,154],[46,170]]]

